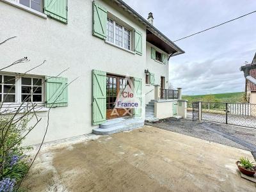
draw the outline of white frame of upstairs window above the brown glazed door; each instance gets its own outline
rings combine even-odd
[[[109,20],[113,20],[113,19],[111,19],[111,18],[109,18],[108,17],[108,19]],[[118,25],[120,25],[120,26],[122,26],[122,45],[117,45],[116,44],[116,24],[118,24]],[[130,32],[130,42],[129,42],[129,45],[127,46],[127,47],[130,47],[130,49],[127,49],[127,48],[125,48],[125,46],[124,46],[124,29],[126,29],[127,31],[129,31]],[[107,30],[108,30],[108,26],[107,26]],[[115,45],[116,47],[120,47],[120,48],[122,48],[122,49],[125,49],[125,50],[127,50],[127,51],[131,51],[131,49],[132,49],[132,46],[131,46],[131,42],[132,42],[132,40],[131,40],[131,36],[132,36],[132,30],[130,30],[130,29],[128,29],[128,28],[125,28],[122,24],[119,24],[118,22],[116,22],[115,20],[113,20],[113,42],[110,42],[109,40],[108,40],[108,36],[107,36],[107,38],[106,38],[106,42],[108,42],[109,44],[113,44],[113,45]],[[109,33],[108,33],[108,35],[109,35]]]

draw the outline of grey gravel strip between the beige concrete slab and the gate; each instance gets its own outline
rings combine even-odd
[[[152,125],[168,131],[178,132],[180,134],[193,136],[195,138],[228,145],[230,147],[249,150],[252,152],[253,157],[256,160],[256,129],[207,122],[199,123],[193,122],[188,118],[181,120],[172,120],[167,118],[159,121],[159,123],[147,123],[147,125]],[[209,127],[210,130],[205,129],[205,127]],[[231,136],[231,140],[230,138],[227,138],[227,135],[225,136],[225,134]],[[250,145],[250,147],[248,147],[246,144]]]

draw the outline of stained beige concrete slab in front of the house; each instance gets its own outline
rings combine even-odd
[[[47,145],[23,183],[30,191],[255,191],[236,160],[246,150],[145,126]]]

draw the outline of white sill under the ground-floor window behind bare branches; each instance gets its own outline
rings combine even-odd
[[[35,106],[36,105],[36,106]],[[2,108],[0,109],[1,115],[3,114],[8,114],[8,113],[16,113],[16,111],[19,109],[20,104],[18,103],[7,103],[3,104]],[[29,104],[23,104],[22,107],[19,109],[19,113],[25,113],[28,111],[28,109],[32,109],[32,105]],[[34,109],[35,112],[44,112],[44,111],[49,111],[49,108],[45,108],[44,103],[35,103],[34,104]],[[31,113],[33,113],[34,110],[31,110]]]

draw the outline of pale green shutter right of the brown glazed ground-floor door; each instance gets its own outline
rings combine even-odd
[[[134,97],[139,100],[140,108],[134,108],[134,116],[141,116],[141,108],[142,108],[142,97],[141,97],[141,92],[142,92],[142,84],[141,84],[141,79],[134,77]]]

